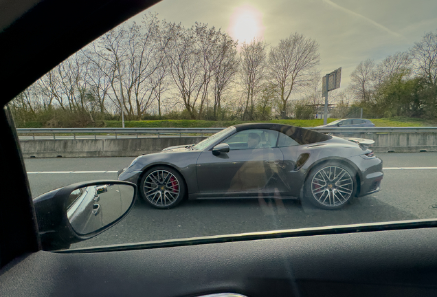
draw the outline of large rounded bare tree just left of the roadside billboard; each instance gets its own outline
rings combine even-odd
[[[269,77],[277,85],[282,101],[281,111],[295,89],[309,87],[315,68],[320,63],[319,45],[315,40],[295,33],[281,39],[269,52]]]

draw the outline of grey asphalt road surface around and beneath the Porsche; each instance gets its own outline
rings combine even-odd
[[[437,153],[381,153],[383,190],[355,199],[338,211],[305,201],[278,199],[184,201],[172,210],[156,210],[138,200],[128,217],[93,239],[71,248],[166,239],[431,219],[437,217]],[[25,159],[32,196],[78,181],[117,179],[117,170],[133,157]],[[93,171],[94,173],[91,173]],[[63,172],[63,173],[59,173]]]

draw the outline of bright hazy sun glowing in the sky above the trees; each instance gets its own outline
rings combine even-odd
[[[238,44],[250,43],[254,39],[264,39],[265,26],[262,12],[251,5],[238,6],[231,15],[227,32]]]

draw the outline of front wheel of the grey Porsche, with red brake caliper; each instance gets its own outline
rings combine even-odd
[[[165,166],[147,170],[138,188],[144,201],[160,209],[174,208],[186,195],[186,185],[181,175],[177,170]]]

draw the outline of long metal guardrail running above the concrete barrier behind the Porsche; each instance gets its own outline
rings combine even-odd
[[[35,134],[52,134],[56,139],[56,134],[94,134],[97,139],[98,134],[115,134],[115,138],[120,134],[156,134],[158,135],[179,135],[182,134],[210,134],[217,133],[225,128],[19,128],[16,131],[19,134],[31,134],[35,139]],[[437,132],[437,126],[434,127],[374,127],[374,128],[306,128],[321,133],[423,133]]]

